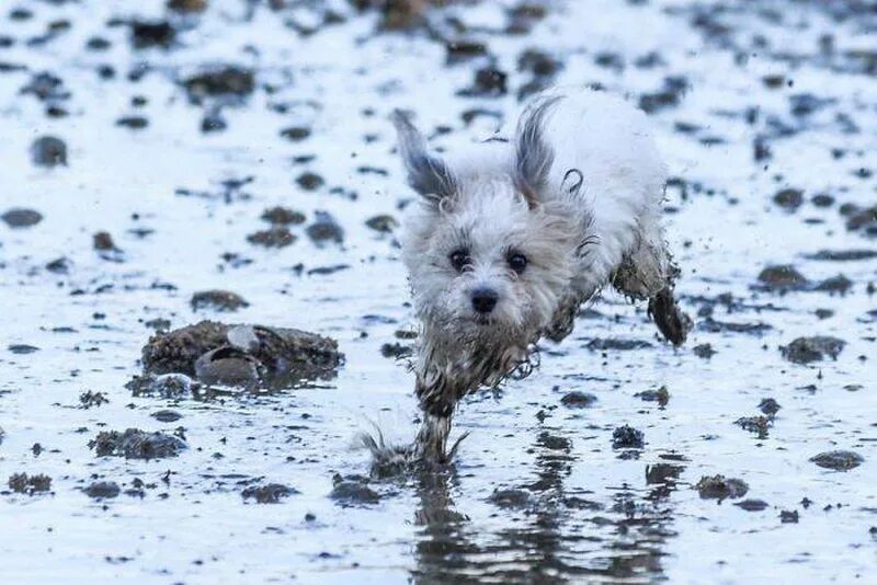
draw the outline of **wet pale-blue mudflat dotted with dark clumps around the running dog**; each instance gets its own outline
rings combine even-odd
[[[137,4],[1,9],[4,578],[874,574],[872,3]],[[356,433],[417,417],[387,116],[453,148],[549,83],[652,114],[696,328],[674,351],[606,294],[466,401],[453,469],[369,477]],[[329,336],[343,364],[128,385],[157,329],[203,319]]]

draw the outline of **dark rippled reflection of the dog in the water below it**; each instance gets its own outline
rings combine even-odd
[[[597,578],[662,578],[673,531],[672,494],[684,469],[677,461],[646,466],[645,486],[607,487],[600,496],[567,485],[572,440],[543,429],[533,444],[533,478],[489,498],[509,528],[489,534],[455,505],[454,469],[417,478],[422,527],[415,547],[414,583],[555,583]],[[668,456],[670,459],[677,459]]]

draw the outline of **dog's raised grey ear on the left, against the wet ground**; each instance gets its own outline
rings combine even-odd
[[[408,184],[434,205],[456,190],[454,175],[438,157],[426,150],[426,140],[399,110],[392,112],[392,125],[399,138],[399,153],[408,172]]]

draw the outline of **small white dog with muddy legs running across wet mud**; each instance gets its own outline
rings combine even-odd
[[[520,370],[540,337],[567,336],[606,284],[648,299],[664,336],[685,340],[661,229],[665,170],[642,112],[553,90],[529,101],[513,136],[446,158],[398,111],[394,124],[421,196],[402,237],[423,325],[419,457],[444,461],[459,399]]]

